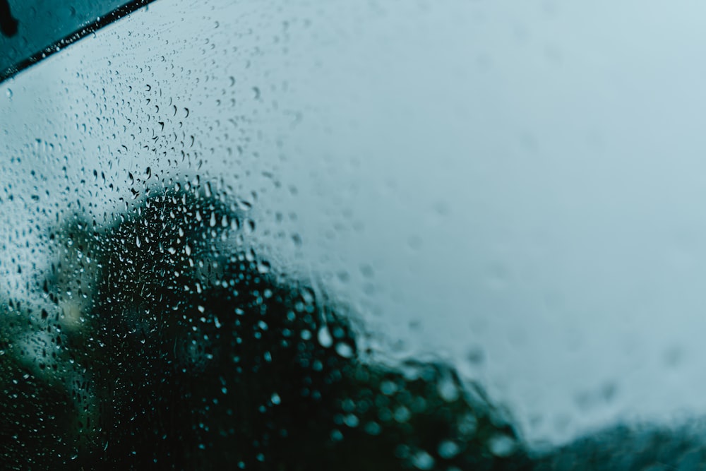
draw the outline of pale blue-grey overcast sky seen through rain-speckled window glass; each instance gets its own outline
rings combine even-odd
[[[155,1],[0,83],[0,285],[62,215],[186,175],[380,359],[452,363],[534,448],[701,417],[704,14]]]

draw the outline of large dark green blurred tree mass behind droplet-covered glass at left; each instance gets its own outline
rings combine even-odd
[[[479,387],[364,361],[345,306],[277,272],[243,222],[177,184],[52,235],[46,306],[0,318],[8,467],[529,469]]]

